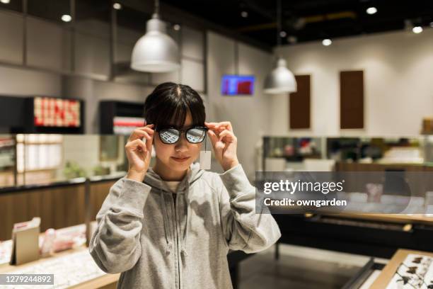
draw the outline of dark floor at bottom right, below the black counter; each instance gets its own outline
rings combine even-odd
[[[361,268],[345,260],[318,260],[281,254],[274,259],[273,249],[241,263],[240,289],[337,289]]]

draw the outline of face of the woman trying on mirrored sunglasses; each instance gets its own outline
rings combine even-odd
[[[192,125],[192,117],[190,111],[188,111],[183,128],[190,127],[190,125]],[[178,142],[168,145],[164,144],[159,138],[159,134],[156,133],[154,135],[154,147],[156,162],[161,162],[165,169],[172,170],[173,173],[183,173],[197,159],[202,148],[202,142],[192,144],[185,139],[185,133],[182,133]]]

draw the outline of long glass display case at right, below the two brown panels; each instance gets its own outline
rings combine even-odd
[[[305,163],[433,164],[433,136],[263,137],[262,169],[280,171]],[[322,160],[322,161],[321,161]],[[285,162],[285,164],[284,164]],[[302,164],[301,164],[302,163]],[[272,167],[272,164],[275,166]]]

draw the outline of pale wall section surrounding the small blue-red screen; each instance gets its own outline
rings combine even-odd
[[[217,33],[207,33],[207,120],[229,120],[238,137],[238,158],[248,177],[254,178],[255,145],[270,128],[269,96],[262,94],[263,82],[271,69],[270,53],[238,43],[238,73],[253,74],[253,96],[222,96],[221,77],[235,74],[235,42]],[[217,166],[218,167],[218,166]]]

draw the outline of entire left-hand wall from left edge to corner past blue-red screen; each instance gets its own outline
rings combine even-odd
[[[235,42],[216,33],[206,34],[185,26],[179,32],[169,30],[180,45],[180,71],[152,74],[150,77],[127,72],[110,81],[110,29],[106,23],[79,21],[75,57],[71,57],[71,31],[67,26],[33,16],[29,16],[28,21],[29,67],[22,67],[21,14],[0,11],[0,23],[4,24],[0,26],[1,94],[82,98],[86,101],[86,134],[96,134],[100,100],[143,102],[154,84],[163,81],[189,84],[202,94],[208,120],[230,120],[233,123],[238,136],[239,159],[248,176],[253,178],[256,169],[254,146],[270,128],[269,96],[261,93],[264,77],[272,66],[270,53],[241,43],[238,45],[238,72],[255,75],[255,94],[251,97],[227,97],[220,94],[221,76],[236,73],[233,62]],[[11,33],[11,30],[17,33]],[[119,28],[118,35],[115,62],[127,63],[134,42],[141,34]],[[151,85],[147,85],[148,81]],[[218,164],[213,165],[219,169]]]

